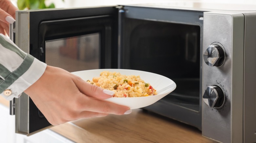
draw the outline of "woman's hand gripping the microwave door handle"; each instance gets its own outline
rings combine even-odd
[[[9,24],[15,20],[15,10],[18,10],[10,0],[0,0],[0,33],[9,35]]]

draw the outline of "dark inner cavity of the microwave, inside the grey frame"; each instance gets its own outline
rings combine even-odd
[[[165,102],[199,111],[200,26],[125,19],[124,68],[172,79],[177,87]]]

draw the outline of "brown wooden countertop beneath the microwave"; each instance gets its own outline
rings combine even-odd
[[[80,119],[51,130],[77,143],[216,143],[195,127],[142,109],[129,115]]]

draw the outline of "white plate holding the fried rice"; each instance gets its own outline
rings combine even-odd
[[[120,72],[124,75],[139,75],[142,80],[144,80],[146,83],[150,83],[154,89],[156,89],[159,93],[159,90],[165,88],[165,91],[161,91],[158,95],[153,96],[146,96],[146,97],[112,97],[109,99],[104,99],[109,102],[117,103],[120,105],[128,106],[131,109],[137,109],[142,108],[148,105],[151,105],[164,96],[171,93],[175,88],[176,84],[171,79],[151,72],[146,71],[137,71],[137,70],[126,70],[126,69],[96,69],[96,70],[86,70],[86,71],[76,71],[72,72],[73,74],[81,77],[83,80],[92,80],[93,77],[99,76],[100,72],[102,71],[116,71]]]

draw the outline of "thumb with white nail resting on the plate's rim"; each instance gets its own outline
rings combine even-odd
[[[80,77],[76,78],[74,82],[76,87],[80,90],[80,92],[82,92],[83,94],[89,97],[93,97],[96,99],[107,99],[107,98],[111,98],[115,94],[114,91],[103,89],[101,87],[92,85],[84,81]]]

